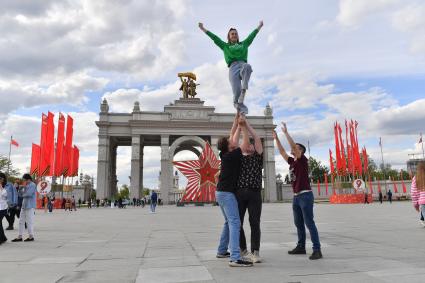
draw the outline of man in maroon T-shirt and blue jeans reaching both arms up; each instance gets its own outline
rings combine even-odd
[[[292,210],[294,212],[294,222],[298,233],[297,246],[293,250],[288,251],[288,253],[306,254],[305,226],[307,226],[310,231],[311,241],[313,242],[313,254],[309,258],[311,260],[319,259],[322,258],[322,252],[320,250],[319,233],[317,232],[317,227],[313,219],[314,195],[311,191],[310,178],[308,176],[308,159],[305,157],[306,148],[304,145],[294,142],[292,137],[288,134],[285,123],[282,123],[282,132],[285,134],[291,146],[291,155],[293,157],[286,153],[276,132],[273,132],[273,137],[280,154],[289,164],[289,175],[292,182],[292,190],[294,192]]]

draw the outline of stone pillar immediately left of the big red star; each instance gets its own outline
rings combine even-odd
[[[170,203],[170,189],[172,188],[173,166],[170,160],[169,136],[161,135],[161,200],[164,204]]]

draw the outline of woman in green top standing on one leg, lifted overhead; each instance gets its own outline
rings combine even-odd
[[[233,91],[233,105],[241,114],[248,114],[248,108],[243,103],[252,73],[251,65],[248,64],[248,47],[262,27],[263,21],[260,21],[258,27],[243,41],[239,41],[238,31],[235,28],[231,28],[227,33],[227,42],[224,42],[218,36],[206,30],[202,23],[199,23],[199,28],[223,50],[224,60],[229,67],[229,81]]]

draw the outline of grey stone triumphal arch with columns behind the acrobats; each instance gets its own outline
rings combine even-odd
[[[190,85],[189,85],[190,86]],[[196,87],[196,85],[194,85]],[[173,158],[183,150],[199,156],[199,148],[209,142],[218,156],[217,141],[229,134],[234,113],[216,113],[196,92],[190,90],[163,111],[143,111],[143,101],[134,102],[131,113],[109,112],[103,100],[100,105],[97,198],[110,198],[117,192],[116,158],[118,146],[131,146],[130,196],[139,198],[143,189],[143,149],[145,146],[161,147],[160,195],[164,204],[172,202]],[[276,173],[272,130],[273,112],[266,106],[263,116],[248,116],[264,146],[264,200],[276,201]],[[158,172],[159,173],[159,172]]]

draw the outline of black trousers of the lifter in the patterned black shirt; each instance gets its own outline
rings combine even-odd
[[[238,189],[236,193],[239,206],[239,216],[241,218],[241,233],[239,246],[241,250],[246,250],[246,238],[243,230],[243,220],[246,210],[249,214],[249,225],[251,226],[251,252],[260,250],[260,218],[262,208],[261,190]]]

